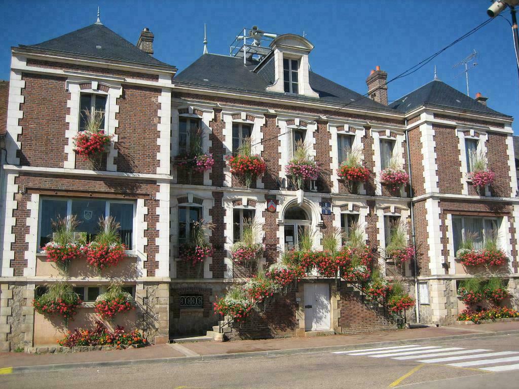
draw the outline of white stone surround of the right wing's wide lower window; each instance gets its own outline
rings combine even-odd
[[[514,205],[514,211],[515,207],[517,205]],[[453,217],[479,217],[474,215],[453,215],[451,213],[447,214],[445,225],[447,226],[447,250],[448,250],[448,262],[449,262],[449,274],[456,274],[456,253],[454,252],[454,231],[453,231]],[[511,262],[514,260],[512,258],[512,245],[511,240],[512,236],[510,234],[510,227],[511,222],[508,216],[488,216],[488,215],[481,215],[482,219],[494,219],[497,220],[497,246],[500,248],[508,258],[511,258],[509,260],[508,270],[510,273],[513,273],[513,268],[511,266]],[[514,226],[516,225],[516,221],[514,219]],[[516,227],[517,228],[517,227]],[[517,230],[516,230],[517,231]]]

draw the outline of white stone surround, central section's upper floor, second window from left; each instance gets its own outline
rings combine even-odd
[[[239,118],[237,116],[239,115]],[[234,116],[234,119],[233,119]],[[253,119],[253,120],[251,120]],[[233,123],[245,123],[251,125],[251,143],[252,143],[252,154],[261,155],[264,151],[263,132],[262,128],[265,126],[265,116],[252,113],[248,110],[240,111],[222,111],[222,120],[224,121],[224,186],[231,187],[232,175],[229,171],[229,167],[226,163],[226,158],[233,152]],[[262,182],[262,177],[256,178],[256,188],[263,189],[265,186]]]

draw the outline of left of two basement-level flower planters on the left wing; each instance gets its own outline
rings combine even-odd
[[[72,285],[66,282],[57,282],[50,285],[48,290],[33,300],[34,310],[43,315],[59,315],[66,326],[73,319],[82,301],[74,293]]]

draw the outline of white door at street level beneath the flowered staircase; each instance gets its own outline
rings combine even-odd
[[[330,285],[305,284],[305,330],[330,329]]]

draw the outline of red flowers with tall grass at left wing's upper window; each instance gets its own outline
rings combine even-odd
[[[74,146],[78,155],[84,160],[91,160],[94,168],[101,167],[101,159],[106,153],[106,148],[112,142],[111,135],[101,130],[104,112],[91,114],[88,109],[83,113],[85,117],[85,130],[78,132],[74,137]]]

